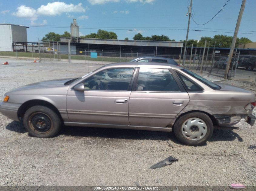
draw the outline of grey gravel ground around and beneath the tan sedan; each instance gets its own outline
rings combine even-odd
[[[6,91],[24,84],[82,76],[100,66],[8,62],[0,65],[1,100]],[[226,82],[255,91],[251,84]],[[22,123],[0,114],[0,185],[256,186],[256,150],[248,149],[256,144],[256,128],[238,127],[215,129],[207,145],[192,147],[180,144],[174,133],[122,129],[65,126],[54,138],[34,138]],[[169,156],[178,161],[149,169]]]

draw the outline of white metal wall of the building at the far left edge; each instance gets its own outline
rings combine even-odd
[[[12,51],[11,25],[0,25],[0,51]]]

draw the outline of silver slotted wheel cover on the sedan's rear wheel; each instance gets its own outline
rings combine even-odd
[[[188,140],[198,141],[206,135],[207,125],[202,119],[189,118],[182,124],[181,132]]]

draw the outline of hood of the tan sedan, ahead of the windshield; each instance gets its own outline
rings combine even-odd
[[[67,89],[68,85],[65,86],[64,84],[67,81],[70,81],[74,78],[65,78],[65,79],[56,79],[56,80],[48,80],[37,82],[33,84],[28,84],[25,86],[21,86],[19,88],[15,88],[6,94],[47,94],[48,91],[51,94],[59,94],[61,92],[60,89]],[[64,91],[65,91],[64,90]],[[65,91],[66,92],[66,91]]]

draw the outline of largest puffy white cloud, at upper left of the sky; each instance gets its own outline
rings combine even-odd
[[[82,6],[82,3],[77,5],[66,4],[64,2],[53,2],[48,3],[47,5],[41,5],[37,10],[25,5],[21,5],[17,8],[17,12],[14,12],[13,15],[17,17],[29,18],[31,21],[37,20],[39,15],[47,16],[56,16],[66,13],[68,17],[74,17],[68,13],[71,12],[85,12],[87,8]]]

